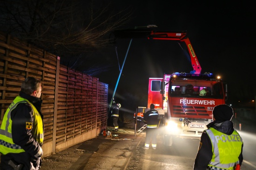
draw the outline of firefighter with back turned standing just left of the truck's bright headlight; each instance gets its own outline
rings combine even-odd
[[[145,139],[145,149],[149,149],[150,145],[150,139],[152,143],[152,148],[156,149],[156,136],[157,136],[157,128],[159,125],[159,120],[158,120],[158,111],[155,110],[155,105],[151,104],[150,105],[150,110],[147,111],[144,114],[144,122],[147,124],[147,130],[146,130],[146,139]]]

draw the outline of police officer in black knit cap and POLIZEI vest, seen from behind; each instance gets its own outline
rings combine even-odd
[[[229,105],[217,105],[213,122],[203,131],[194,170],[235,170],[243,162],[243,140],[231,120],[233,109]]]

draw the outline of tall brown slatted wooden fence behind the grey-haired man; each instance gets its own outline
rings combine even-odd
[[[60,57],[0,33],[0,124],[28,76],[42,81],[44,157],[107,128],[108,85],[60,65]]]

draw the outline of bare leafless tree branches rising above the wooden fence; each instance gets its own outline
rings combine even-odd
[[[0,3],[2,32],[61,56],[61,64],[74,69],[88,63],[85,61],[90,52],[109,45],[109,34],[131,16],[128,8],[115,9],[113,2],[102,0],[0,0]],[[105,71],[101,63],[94,63],[86,70],[91,75]]]

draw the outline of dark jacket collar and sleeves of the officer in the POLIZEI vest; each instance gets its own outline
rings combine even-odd
[[[208,128],[213,127],[217,131],[220,131],[224,134],[231,135],[234,131],[234,124],[232,121],[225,121],[225,122],[217,122],[213,121],[207,125]],[[242,150],[239,155],[239,164],[241,165],[243,162],[243,144]],[[208,134],[203,131],[201,136],[201,141],[198,149],[198,153],[195,158],[194,163],[194,170],[206,170],[208,167],[209,162],[211,161],[213,156],[212,153],[212,144]]]

